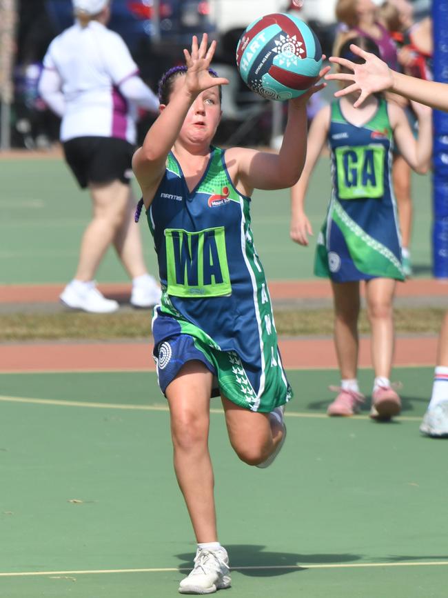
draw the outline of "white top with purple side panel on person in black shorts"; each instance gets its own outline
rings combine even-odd
[[[39,93],[62,117],[61,141],[94,136],[135,143],[137,108],[159,108],[123,39],[98,21],[58,35],[43,66]]]

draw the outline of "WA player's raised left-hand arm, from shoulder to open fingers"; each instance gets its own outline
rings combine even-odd
[[[193,36],[191,54],[188,50],[183,50],[187,63],[187,74],[183,86],[173,94],[170,103],[147,132],[143,146],[136,150],[132,158],[132,169],[139,181],[143,197],[150,197],[152,190],[155,190],[154,187],[161,181],[165,172],[167,155],[198,94],[216,85],[228,83],[227,79],[212,77],[208,72],[215,48],[216,41],[212,41],[210,48],[207,49],[207,34],[205,33],[200,46],[198,46],[196,36]]]

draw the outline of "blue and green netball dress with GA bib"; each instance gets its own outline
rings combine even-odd
[[[333,188],[317,241],[315,274],[334,282],[404,280],[387,103],[378,101],[374,117],[358,127],[334,101],[328,140]]]

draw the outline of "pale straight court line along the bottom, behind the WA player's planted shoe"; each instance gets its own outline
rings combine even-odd
[[[250,571],[266,569],[354,569],[373,567],[435,567],[448,566],[448,561],[416,561],[410,563],[344,563],[344,564],[323,564],[323,565],[265,565],[250,567],[231,567],[232,571]],[[22,571],[0,573],[0,577],[32,577],[37,575],[101,575],[108,573],[170,573],[176,571],[190,571],[191,567],[166,567],[148,569],[92,569],[75,571]]]

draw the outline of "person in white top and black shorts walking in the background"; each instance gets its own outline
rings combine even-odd
[[[109,0],[72,2],[76,22],[50,44],[39,92],[62,119],[65,160],[79,186],[90,190],[93,219],[83,235],[77,272],[60,299],[88,312],[118,309],[94,281],[113,244],[132,279],[132,306],[149,308],[158,303],[160,288],[147,273],[139,229],[132,226],[130,177],[137,110],[156,112],[159,101],[137,76],[123,39],[106,28]]]

